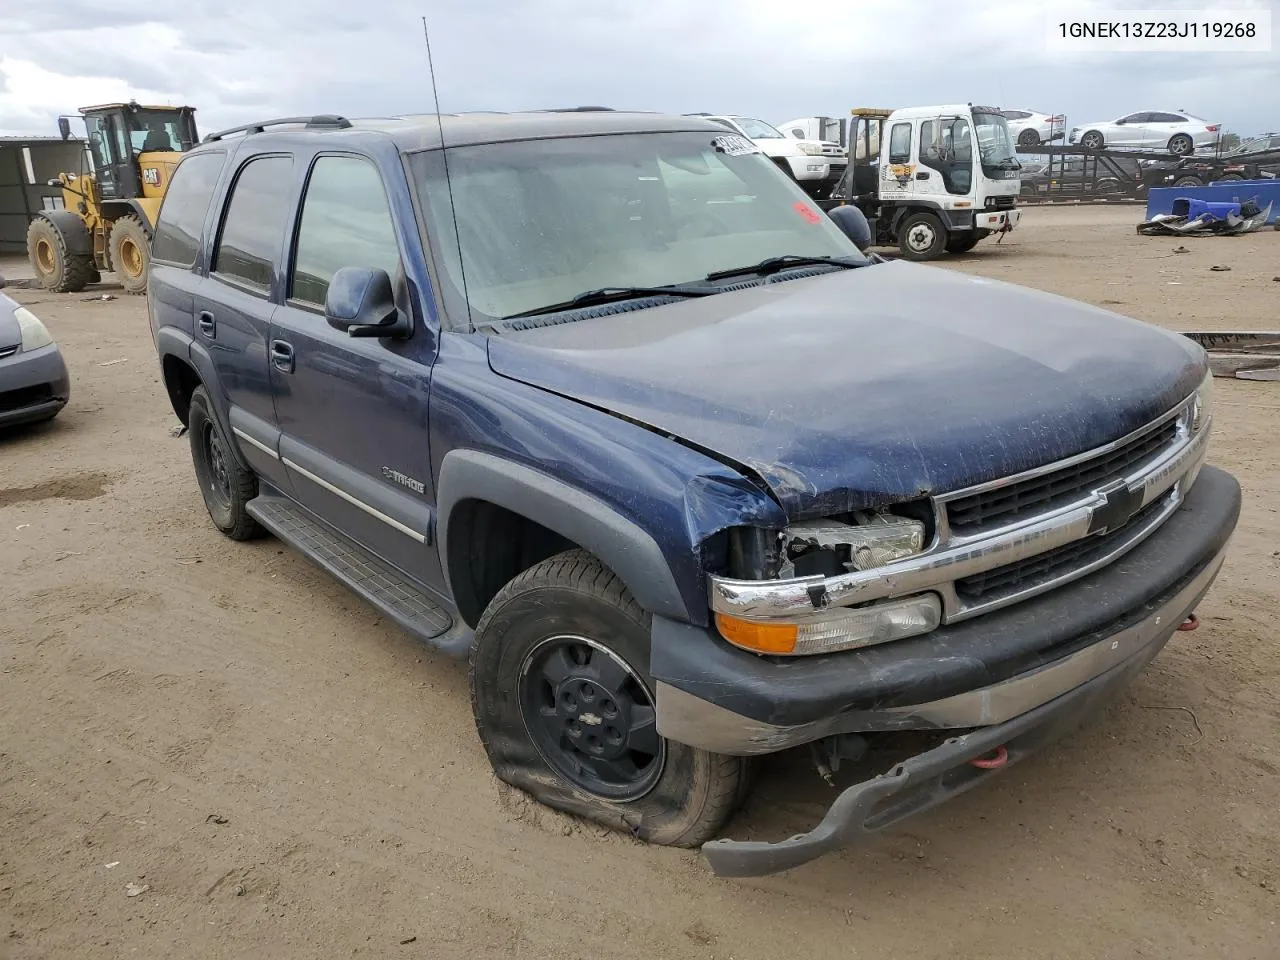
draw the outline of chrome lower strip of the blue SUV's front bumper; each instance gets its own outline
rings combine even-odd
[[[1178,625],[1201,602],[1226,557],[1224,545],[1174,595],[1147,617],[1101,636],[1069,657],[1000,684],[929,703],[864,710],[813,723],[774,726],[742,717],[686,694],[657,685],[658,732],[690,746],[749,756],[774,753],[832,733],[877,730],[934,730],[984,727],[1009,722],[1051,700],[1115,671],[1130,660],[1146,663],[1169,641]]]

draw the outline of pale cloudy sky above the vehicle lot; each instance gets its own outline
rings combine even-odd
[[[136,97],[189,104],[202,132],[265,116],[431,109],[428,17],[444,110],[576,104],[740,113],[781,123],[851,106],[972,101],[1069,124],[1187,109],[1240,133],[1280,129],[1280,49],[1062,54],[1043,0],[8,0],[0,133]],[[1222,9],[1272,12],[1280,0]],[[1075,17],[1201,0],[1074,0]],[[788,18],[787,12],[795,12]]]

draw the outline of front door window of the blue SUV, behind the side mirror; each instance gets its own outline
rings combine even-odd
[[[323,306],[329,280],[344,266],[396,276],[396,225],[376,166],[356,156],[321,156],[302,201],[289,298]]]

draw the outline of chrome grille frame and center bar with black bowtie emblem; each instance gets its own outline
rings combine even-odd
[[[1199,429],[1192,431],[1194,403],[1196,394],[1129,436],[1079,457],[936,498],[937,534],[933,544],[915,557],[831,577],[735,580],[712,575],[708,577],[710,607],[717,613],[742,620],[803,622],[831,608],[933,591],[942,599],[943,622],[956,623],[1078,580],[1137,547],[1181,506],[1204,462],[1212,425],[1211,419],[1206,417]],[[1119,481],[1028,521],[973,535],[952,534],[950,530],[946,512],[948,502],[1103,457],[1110,451],[1166,426],[1170,420],[1176,420],[1178,424],[1175,440]],[[1158,506],[1152,506],[1157,503]],[[1134,529],[1125,529],[1116,538],[1112,549],[1089,563],[989,599],[966,602],[956,593],[955,582],[959,580],[1107,532],[1148,506],[1153,509],[1151,516],[1135,524]],[[1125,508],[1126,513],[1116,515],[1117,507]]]

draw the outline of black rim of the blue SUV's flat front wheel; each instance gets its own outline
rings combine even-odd
[[[626,660],[585,636],[556,635],[520,673],[525,730],[557,773],[613,800],[653,790],[667,749],[653,698]]]

